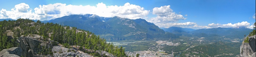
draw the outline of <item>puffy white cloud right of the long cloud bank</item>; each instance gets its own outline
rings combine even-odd
[[[150,18],[147,21],[154,23],[159,27],[169,28],[171,26],[179,26],[179,25],[185,26],[185,25],[196,24],[193,22],[173,23],[178,20],[186,20],[187,18],[185,18],[183,15],[176,14],[175,12],[173,12],[173,10],[170,8],[170,5],[155,7],[155,8],[153,8],[152,14],[157,15],[157,16]]]

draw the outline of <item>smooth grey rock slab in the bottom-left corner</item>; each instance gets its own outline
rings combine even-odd
[[[20,47],[12,47],[0,51],[0,57],[20,57],[22,49]]]

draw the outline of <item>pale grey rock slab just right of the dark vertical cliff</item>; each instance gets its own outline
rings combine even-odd
[[[67,56],[73,56],[73,57],[93,57],[87,53],[84,53],[82,51],[77,51],[76,49],[68,49],[62,46],[53,46],[52,52],[54,57],[67,57]]]

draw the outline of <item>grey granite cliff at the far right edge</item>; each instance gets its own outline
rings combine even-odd
[[[246,39],[246,37],[244,38]],[[249,43],[240,46],[240,57],[255,57],[255,35],[249,37]]]

